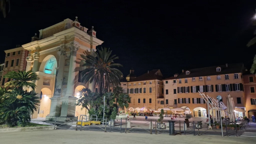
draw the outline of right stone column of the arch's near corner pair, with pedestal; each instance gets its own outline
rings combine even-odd
[[[77,50],[79,47],[74,42],[70,43],[70,64],[69,64],[69,73],[68,73],[68,85],[67,92],[64,97],[61,98],[61,115],[62,117],[73,117],[75,116],[76,110],[76,100],[74,97],[74,80],[76,76],[76,59],[77,59]]]

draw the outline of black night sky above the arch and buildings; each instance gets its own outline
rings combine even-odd
[[[11,1],[0,21],[1,50],[26,44],[38,30],[78,16],[94,26],[97,38],[119,56],[124,76],[160,69],[164,77],[182,69],[243,62],[250,66],[256,47],[251,17],[256,2],[248,1]],[[98,46],[99,48],[99,46]],[[0,61],[4,61],[4,52]]]

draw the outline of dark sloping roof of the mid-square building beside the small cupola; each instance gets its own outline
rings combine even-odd
[[[131,79],[129,82],[133,82],[133,81],[146,81],[146,80],[162,80],[164,79],[163,76],[160,75],[156,75],[155,73],[158,71],[159,69],[154,69],[149,71],[148,73],[145,73],[141,76],[138,76],[136,78]]]

